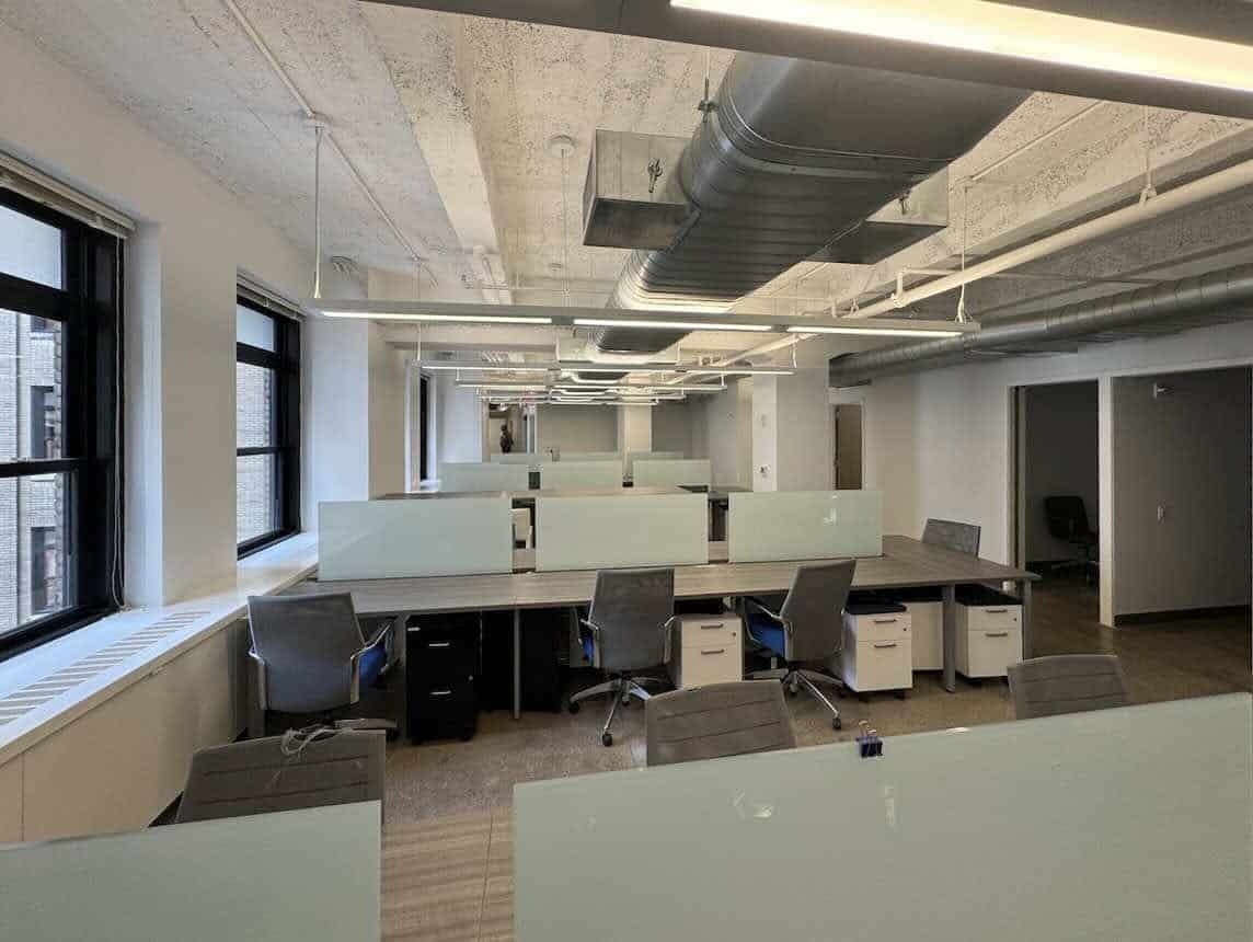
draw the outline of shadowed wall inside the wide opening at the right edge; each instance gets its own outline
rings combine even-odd
[[[1114,382],[1115,615],[1249,603],[1250,382],[1247,368]]]

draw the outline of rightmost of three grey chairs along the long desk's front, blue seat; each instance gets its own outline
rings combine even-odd
[[[831,710],[831,725],[843,727],[840,710],[818,689],[818,684],[843,688],[842,681],[804,664],[826,663],[845,646],[843,608],[853,582],[857,560],[840,560],[799,566],[792,587],[778,611],[759,599],[747,599],[748,634],[774,656],[782,658],[782,670],[758,670],[751,680],[778,679],[796,693],[803,686]]]

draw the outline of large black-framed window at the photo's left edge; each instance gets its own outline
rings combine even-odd
[[[0,189],[0,658],[117,609],[122,242]]]

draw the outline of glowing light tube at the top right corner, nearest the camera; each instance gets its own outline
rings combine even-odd
[[[1253,48],[987,0],[670,0],[872,39],[1253,91]],[[1185,6],[1187,4],[1182,4]],[[1099,5],[1094,5],[1099,10]]]

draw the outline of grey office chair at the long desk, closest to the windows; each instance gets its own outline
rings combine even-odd
[[[251,596],[249,735],[264,735],[268,710],[326,718],[356,705],[392,664],[392,626],[386,621],[366,638],[348,593]],[[393,723],[380,728],[395,733]]]

